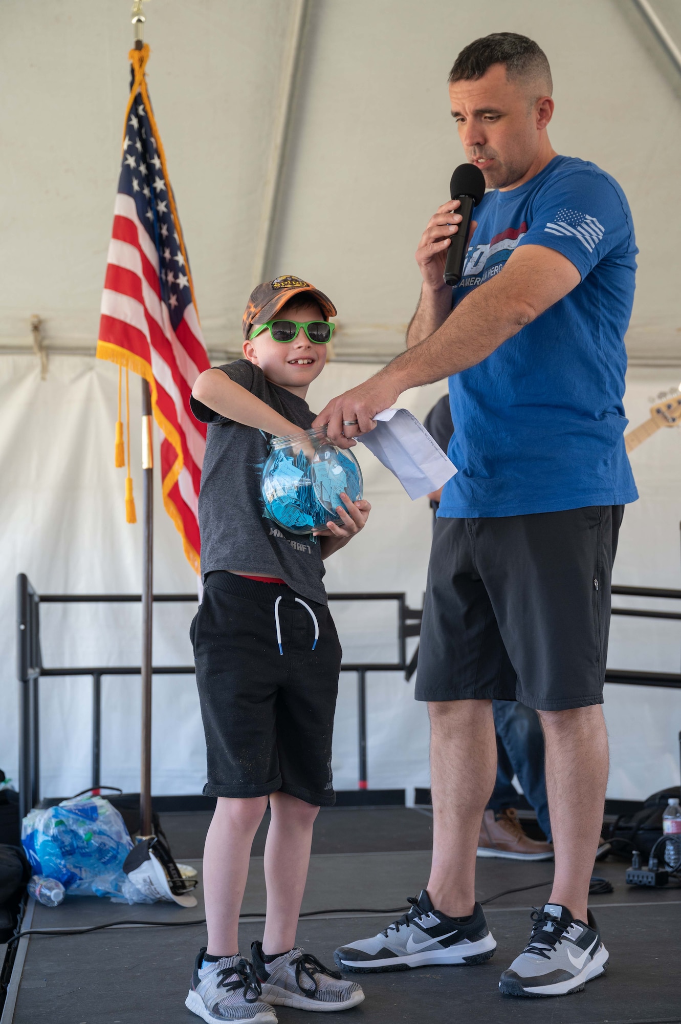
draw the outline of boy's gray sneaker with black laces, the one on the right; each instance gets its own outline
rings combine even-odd
[[[254,942],[251,955],[266,1002],[328,1013],[349,1010],[364,998],[357,982],[346,981],[300,947],[266,964],[261,943]]]

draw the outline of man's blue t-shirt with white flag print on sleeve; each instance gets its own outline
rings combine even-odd
[[[476,367],[449,379],[458,468],[440,516],[507,516],[623,505],[638,494],[625,451],[636,243],[626,197],[594,164],[554,157],[509,191],[489,191],[453,304],[517,246],[556,249],[582,281]]]

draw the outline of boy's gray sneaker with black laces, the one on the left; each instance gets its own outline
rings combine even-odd
[[[260,982],[253,965],[237,954],[223,956],[203,968],[205,952],[201,949],[196,957],[185,1007],[205,1021],[276,1024],[274,1010],[260,998]]]

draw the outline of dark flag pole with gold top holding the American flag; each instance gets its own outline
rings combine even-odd
[[[132,24],[135,49],[144,45],[143,0],[135,0]],[[139,785],[139,830],[151,836],[151,657],[153,624],[153,449],[151,391],[142,377],[142,764]]]

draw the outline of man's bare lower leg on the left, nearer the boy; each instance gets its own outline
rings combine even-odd
[[[473,911],[475,854],[497,772],[491,700],[438,700],[430,716],[433,866],[427,893],[450,918]]]

